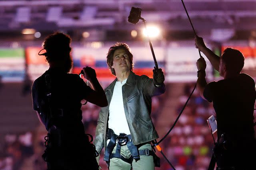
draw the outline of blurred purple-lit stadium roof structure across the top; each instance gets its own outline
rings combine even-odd
[[[200,35],[228,34],[230,39],[248,39],[256,34],[256,0],[184,3]],[[132,6],[142,9],[148,23],[160,25],[167,40],[191,39],[194,35],[180,0],[0,0],[0,36],[22,38],[21,30],[32,28],[42,34],[61,30],[75,40],[91,30],[99,32],[94,38],[102,41],[132,39],[130,31],[143,26],[128,23]]]

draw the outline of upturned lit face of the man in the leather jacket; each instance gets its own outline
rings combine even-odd
[[[121,72],[128,72],[131,69],[130,58],[125,49],[117,49],[113,55],[113,65],[116,74]]]

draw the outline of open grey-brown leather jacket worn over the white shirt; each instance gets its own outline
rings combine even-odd
[[[113,95],[117,78],[105,89],[108,106],[102,107],[99,113],[94,145],[100,153],[106,149],[106,130],[108,127],[109,104]],[[150,117],[151,97],[165,92],[165,85],[156,87],[153,79],[148,76],[138,76],[130,72],[126,83],[122,86],[124,112],[134,145],[146,143],[158,138],[156,129]]]

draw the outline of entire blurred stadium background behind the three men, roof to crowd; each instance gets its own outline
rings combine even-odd
[[[184,0],[199,36],[220,55],[235,47],[245,57],[243,72],[256,77],[256,0]],[[152,119],[162,138],[196,82],[198,51],[180,0],[0,0],[0,170],[45,170],[45,128],[32,110],[32,82],[48,69],[38,56],[44,38],[62,31],[72,38],[73,73],[96,70],[104,88],[114,80],[106,53],[117,41],[130,45],[137,74],[152,77],[154,61],[144,25],[128,23],[131,7],[142,9],[156,59],[166,76],[166,93],[152,100]],[[208,81],[220,76],[207,61]],[[86,80],[85,80],[86,81]],[[83,109],[86,132],[95,134],[99,107]],[[176,170],[206,170],[213,140],[206,119],[212,104],[194,92],[176,127],[160,144]],[[171,170],[160,153],[161,168]],[[106,170],[103,159],[100,165]]]

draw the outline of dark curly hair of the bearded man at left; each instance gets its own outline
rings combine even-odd
[[[55,32],[48,35],[42,44],[42,47],[46,50],[46,61],[61,60],[64,57],[69,57],[71,38],[61,32]]]

